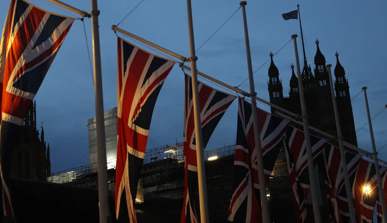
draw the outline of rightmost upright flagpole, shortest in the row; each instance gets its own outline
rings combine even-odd
[[[384,190],[382,188],[383,181],[382,177],[380,175],[380,169],[379,169],[379,163],[378,163],[378,152],[376,151],[375,146],[375,138],[373,138],[373,129],[372,129],[372,122],[371,122],[371,116],[370,116],[370,107],[368,107],[368,99],[367,99],[367,87],[362,87],[364,91],[364,99],[365,99],[365,107],[367,109],[367,117],[368,117],[368,126],[370,128],[370,136],[371,136],[371,144],[372,144],[372,155],[373,155],[373,161],[375,163],[375,170],[376,170],[376,177],[378,179],[378,185],[379,185],[379,202],[382,206],[383,215],[387,216],[387,209],[386,209],[386,202],[384,198]],[[383,218],[383,223],[387,223],[387,218]]]

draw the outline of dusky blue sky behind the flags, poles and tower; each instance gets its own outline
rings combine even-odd
[[[9,2],[9,0],[0,2],[1,29]],[[63,2],[90,11],[90,1]],[[71,16],[43,0],[31,0],[31,3],[51,12]],[[117,37],[111,30],[111,25],[120,22],[138,3],[139,0],[99,1],[104,111],[116,106]],[[269,59],[270,51],[275,53],[286,44],[292,34],[298,34],[300,37],[298,20],[285,21],[281,16],[283,13],[296,10],[297,3],[300,4],[308,63],[313,67],[316,38],[320,41],[320,49],[327,63],[331,63],[333,68],[336,65],[334,54],[337,51],[346,71],[351,97],[358,94],[361,87],[367,86],[371,116],[375,116],[387,104],[387,89],[383,87],[387,82],[385,71],[387,26],[382,25],[385,21],[384,9],[387,2],[248,1],[246,10],[253,70]],[[237,0],[192,1],[196,48],[204,43],[238,7]],[[86,18],[84,22],[92,53],[91,19]],[[185,1],[144,0],[119,27],[189,57]],[[75,20],[35,98],[38,126],[43,121],[45,140],[50,143],[52,172],[89,164],[87,119],[95,116],[95,106],[83,29],[82,22]],[[148,48],[144,49],[155,53]],[[237,86],[248,77],[245,50],[242,10],[239,10],[197,51],[199,58],[197,67],[207,75]],[[274,56],[274,62],[283,81],[284,95],[288,95],[290,65],[295,63],[294,55],[293,42],[290,42]],[[269,100],[268,68],[269,63],[262,66],[254,75],[258,97],[265,100]],[[183,82],[183,72],[175,65],[159,94],[152,117],[149,136],[159,145],[175,143],[176,138],[177,141],[183,140]],[[208,84],[206,81],[203,82]],[[249,91],[248,81],[241,85],[241,89]],[[258,106],[269,111],[269,108],[262,104]],[[363,93],[352,101],[352,107],[357,130],[367,123]],[[236,117],[237,104],[233,102],[212,134],[207,149],[234,144]],[[386,118],[387,111],[384,110],[373,119],[377,149],[387,143]],[[358,132],[357,137],[360,148],[372,150],[368,125]],[[151,147],[152,145],[148,143],[148,148]],[[380,158],[387,160],[387,146],[380,151]]]

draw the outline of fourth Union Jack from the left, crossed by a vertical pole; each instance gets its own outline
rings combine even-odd
[[[238,99],[238,125],[234,161],[234,180],[228,221],[262,222],[257,151],[251,104]],[[265,181],[269,179],[281,150],[289,119],[269,114],[257,108]]]

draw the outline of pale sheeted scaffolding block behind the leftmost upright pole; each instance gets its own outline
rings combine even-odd
[[[117,107],[104,112],[106,160],[117,158]],[[97,163],[97,128],[96,117],[87,121],[89,128],[89,155],[90,164]],[[109,167],[108,168],[112,168]]]

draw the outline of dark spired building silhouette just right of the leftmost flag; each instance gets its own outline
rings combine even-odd
[[[51,172],[50,144],[46,148],[43,123],[40,138],[36,129],[36,101],[31,103],[18,136],[12,154],[11,177],[46,181]]]

